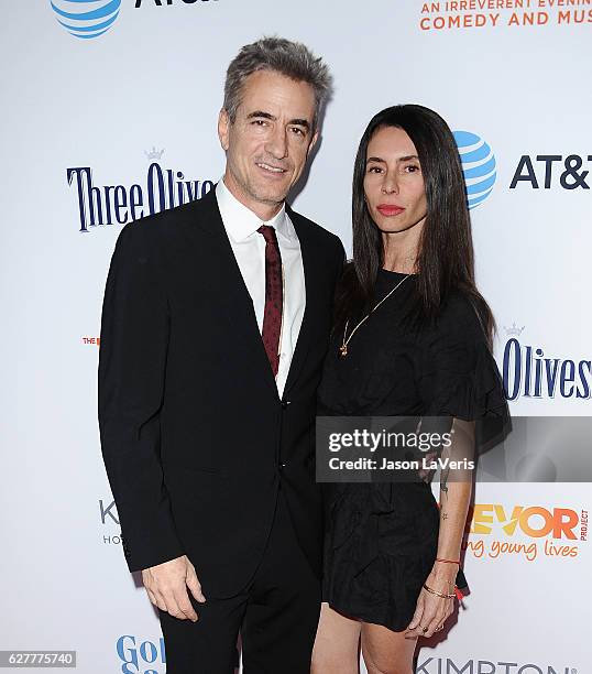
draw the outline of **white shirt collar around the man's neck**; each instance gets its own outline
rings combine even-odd
[[[255,233],[262,224],[274,227],[277,236],[285,238],[287,241],[293,241],[296,238],[296,230],[287,217],[285,204],[282,204],[282,208],[271,220],[263,221],[250,208],[239,202],[226,186],[223,177],[218,181],[216,186],[216,198],[224,229],[234,241],[244,241]]]

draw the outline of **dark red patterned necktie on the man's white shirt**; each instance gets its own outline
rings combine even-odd
[[[284,304],[282,257],[275,229],[270,225],[262,225],[257,231],[265,239],[265,311],[261,336],[275,377],[279,366],[279,335]]]

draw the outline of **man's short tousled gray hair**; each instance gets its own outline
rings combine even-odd
[[[284,37],[262,37],[244,45],[228,66],[224,83],[224,110],[231,123],[237,119],[244,80],[257,70],[281,73],[296,81],[305,81],[315,91],[315,118],[317,128],[320,110],[332,91],[332,78],[328,66],[302,42]]]

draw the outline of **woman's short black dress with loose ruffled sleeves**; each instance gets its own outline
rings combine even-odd
[[[380,270],[376,300],[405,274]],[[509,416],[503,382],[476,313],[460,292],[436,324],[408,328],[410,275],[358,329],[341,358],[335,334],[318,392],[319,415]],[[351,333],[350,325],[348,335]],[[325,483],[324,601],[402,631],[437,555],[439,509],[426,481]],[[465,587],[462,570],[457,586]]]

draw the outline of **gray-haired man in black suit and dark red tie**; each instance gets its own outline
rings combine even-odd
[[[227,74],[227,165],[199,202],[128,224],[109,269],[99,428],[130,570],[168,674],[305,674],[320,607],[316,389],[339,239],[285,205],[327,66],[263,39]]]

